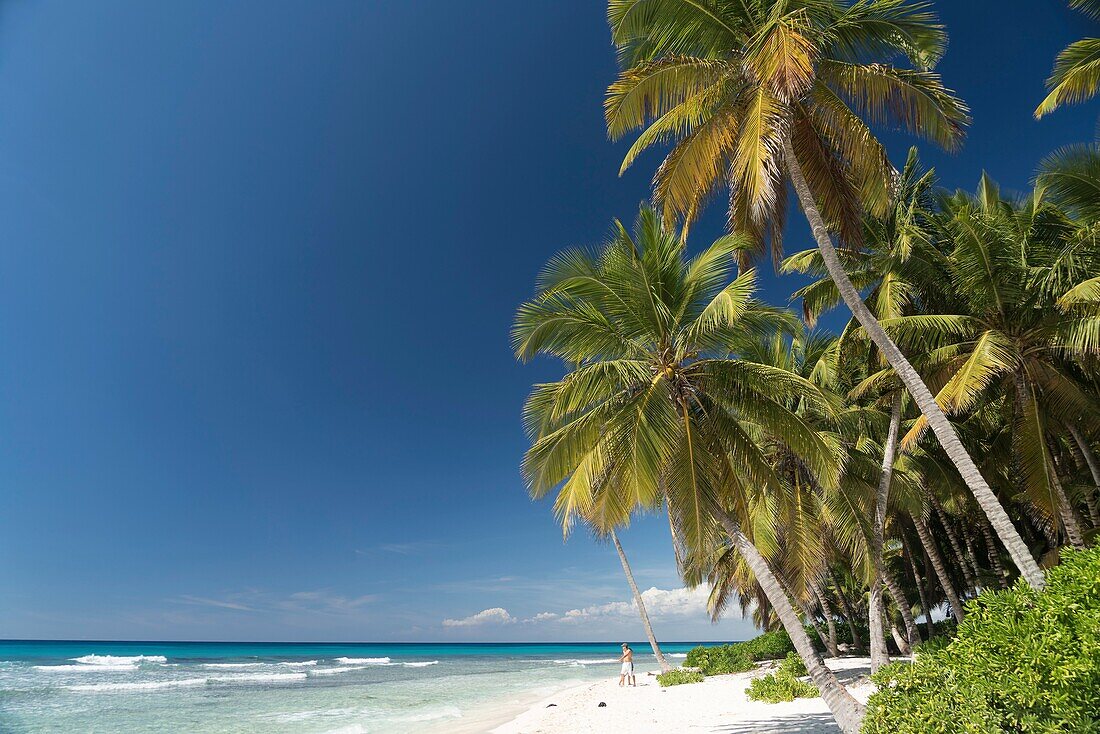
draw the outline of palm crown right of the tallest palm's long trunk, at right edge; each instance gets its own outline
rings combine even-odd
[[[985,176],[976,196],[956,195],[945,208],[943,303],[883,325],[923,355],[926,374],[943,385],[936,402],[946,412],[966,415],[997,396],[1005,401],[1023,490],[1081,546],[1081,522],[1052,443],[1062,426],[1094,425],[1100,414],[1072,369],[1074,359],[1089,355],[1094,325],[1088,314],[1059,311],[1056,300],[1100,266],[1094,241],[1042,191],[1013,204]],[[914,443],[925,425],[917,419],[903,443]]]

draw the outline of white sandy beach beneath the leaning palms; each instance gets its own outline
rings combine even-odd
[[[867,681],[869,658],[828,660],[853,694],[866,701],[875,687]],[[771,666],[769,666],[771,667]],[[638,673],[637,688],[619,688],[618,677],[576,686],[538,701],[493,734],[604,734],[606,732],[721,732],[722,734],[832,734],[825,702],[758,703],[745,697],[748,681],[760,668],[733,676],[714,676],[702,683],[661,688],[652,675]],[[606,706],[600,706],[604,702]],[[552,704],[552,705],[551,705]]]

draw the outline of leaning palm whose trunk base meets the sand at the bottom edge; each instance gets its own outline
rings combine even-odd
[[[519,359],[548,354],[571,365],[537,385],[526,406],[532,446],[524,474],[532,496],[558,487],[564,528],[579,517],[606,527],[666,497],[678,538],[705,552],[736,549],[751,569],[845,732],[862,706],[814,649],[757,543],[752,507],[784,491],[759,438],[782,440],[818,482],[837,481],[836,447],[787,402],[828,409],[809,381],[737,359],[746,343],[793,329],[788,311],[754,297],[756,275],[729,281],[745,238],[725,237],[688,260],[678,234],[644,208],[631,234],[616,222],[598,252],[574,250],[547,266],[516,316]]]

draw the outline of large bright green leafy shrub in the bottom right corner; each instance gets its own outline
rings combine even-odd
[[[864,733],[1100,730],[1100,547],[1063,551],[1046,581],[982,593],[949,644],[877,672]]]

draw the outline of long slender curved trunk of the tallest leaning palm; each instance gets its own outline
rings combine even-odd
[[[959,474],[961,474],[963,481],[966,482],[970,492],[974,493],[975,499],[978,501],[978,506],[981,507],[982,512],[989,517],[990,523],[993,524],[993,529],[997,530],[1001,543],[1008,548],[1009,555],[1015,562],[1016,568],[1020,569],[1020,573],[1032,587],[1042,589],[1045,584],[1043,571],[1040,570],[1038,563],[1035,562],[1035,558],[1027,549],[1027,545],[1020,537],[1020,533],[1015,526],[1012,525],[1009,514],[1004,512],[1004,507],[1001,506],[997,495],[989,489],[989,484],[986,483],[981,472],[978,471],[974,459],[967,453],[958,435],[947,420],[947,416],[944,415],[943,409],[936,403],[936,398],[933,397],[932,391],[924,384],[921,375],[916,373],[916,370],[909,363],[905,355],[901,353],[901,350],[898,349],[893,340],[887,336],[887,332],[882,329],[882,325],[878,322],[864,304],[864,299],[859,296],[859,292],[856,291],[856,286],[851,284],[847,273],[844,272],[844,266],[840,264],[839,258],[837,258],[832,239],[829,239],[828,228],[825,226],[825,220],[822,219],[817,204],[814,201],[810,186],[806,184],[802,166],[794,155],[794,147],[791,144],[790,135],[783,135],[783,154],[791,175],[791,183],[799,195],[799,200],[802,202],[802,210],[810,221],[810,229],[817,241],[817,249],[821,251],[825,269],[844,297],[844,303],[848,305],[851,315],[864,327],[864,330],[905,384],[905,388],[913,396],[921,414],[927,419],[932,432],[936,435],[936,439],[944,447],[947,457],[955,464]]]

